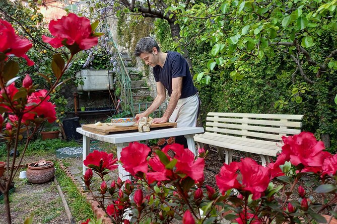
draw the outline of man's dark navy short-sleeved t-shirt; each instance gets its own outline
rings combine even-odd
[[[182,77],[181,99],[197,92],[193,85],[187,61],[178,52],[168,51],[163,68],[156,65],[153,68],[153,74],[156,82],[161,82],[165,86],[169,96],[172,94],[172,78],[176,77]]]

